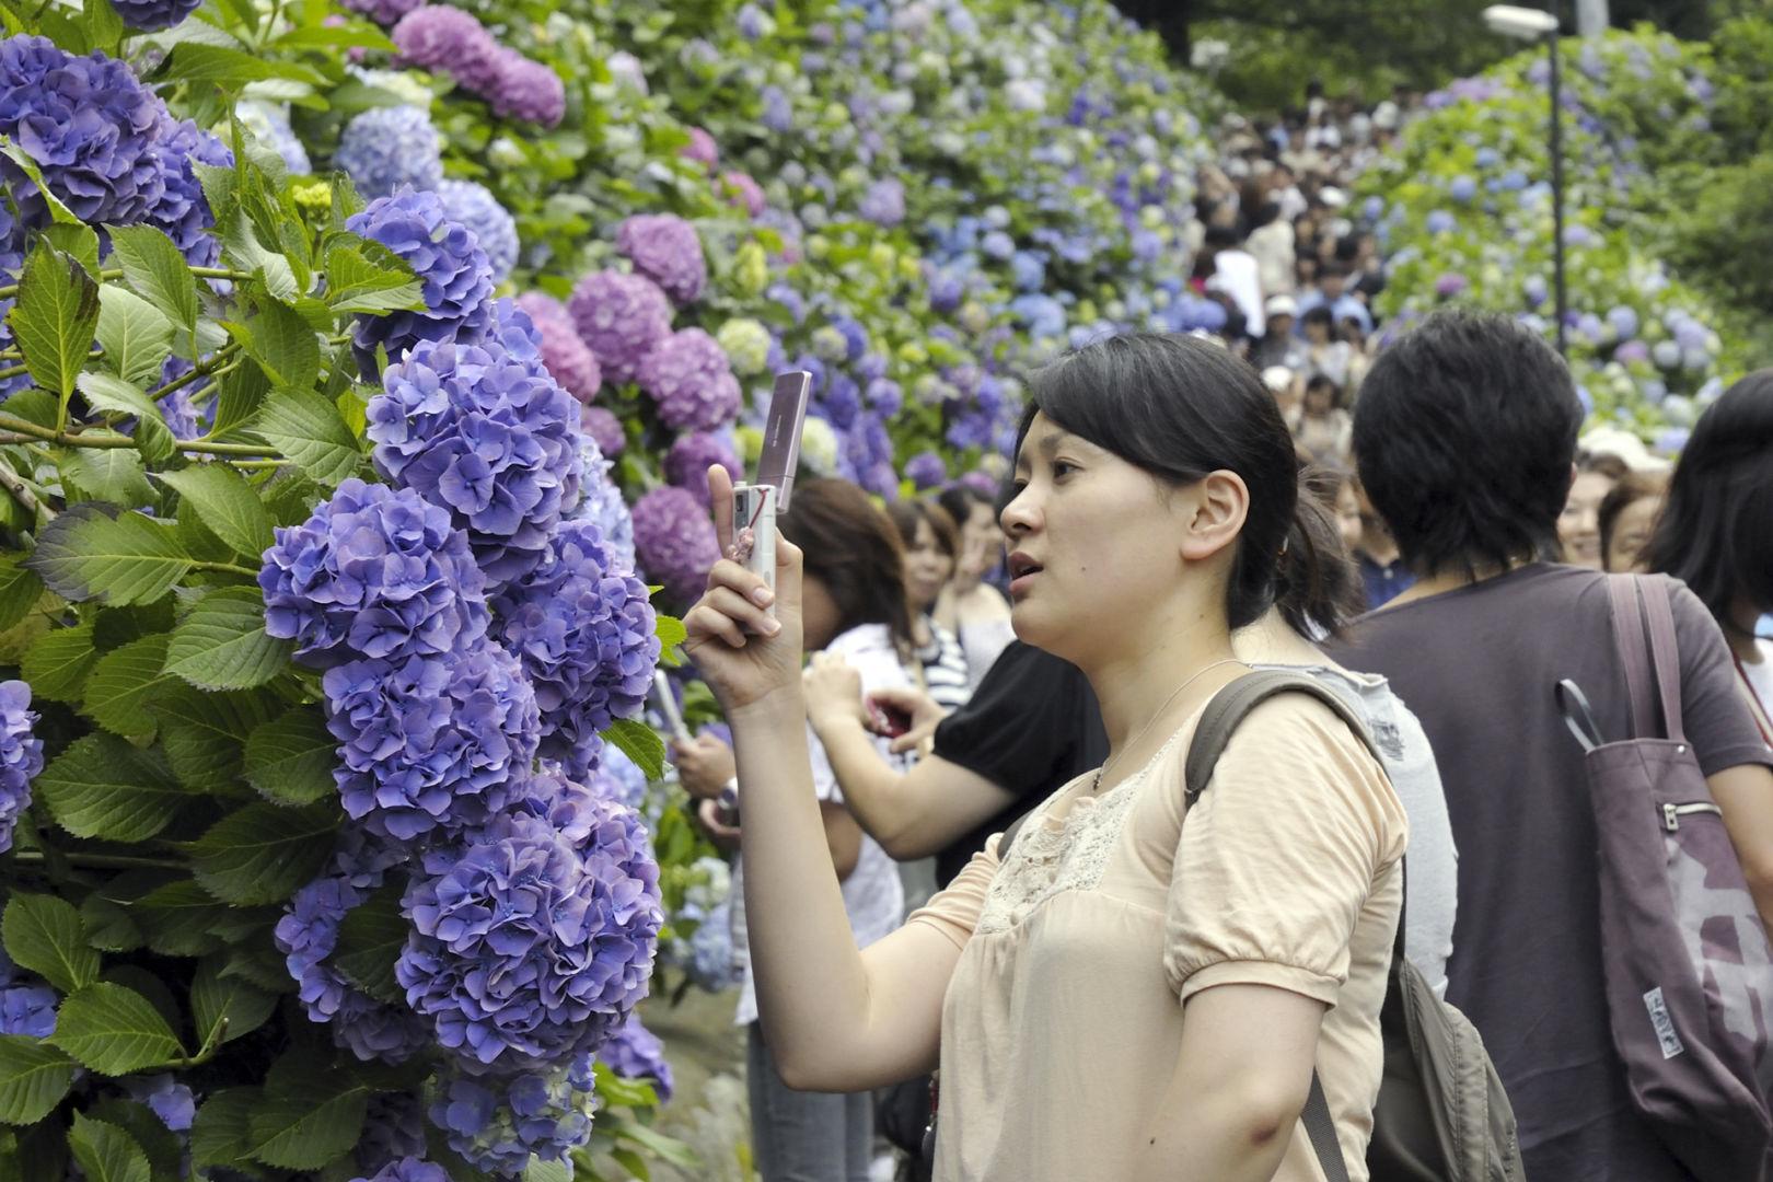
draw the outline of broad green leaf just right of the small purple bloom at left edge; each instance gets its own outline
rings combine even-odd
[[[74,836],[145,842],[190,796],[158,753],[108,734],[74,739],[34,783],[55,822]]]

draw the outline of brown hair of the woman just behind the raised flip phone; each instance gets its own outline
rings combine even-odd
[[[899,650],[911,650],[899,533],[867,493],[849,480],[803,480],[777,525],[807,555],[807,574],[837,603],[837,631],[885,624]]]

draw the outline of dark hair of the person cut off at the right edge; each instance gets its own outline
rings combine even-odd
[[[1651,571],[1672,574],[1716,620],[1748,599],[1773,610],[1773,369],[1723,392],[1681,450],[1668,502],[1644,553]]]

